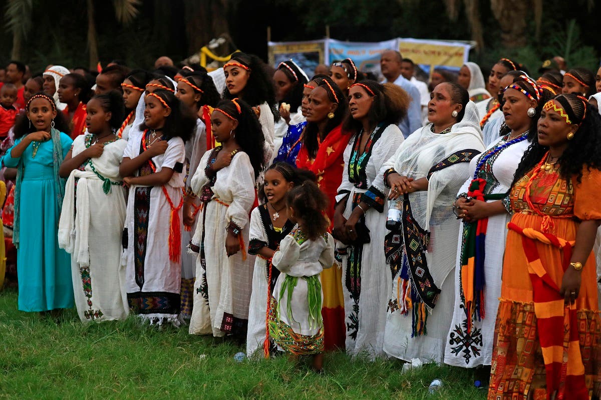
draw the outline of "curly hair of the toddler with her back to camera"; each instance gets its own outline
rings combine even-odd
[[[310,240],[326,233],[330,226],[325,216],[328,199],[315,182],[305,181],[293,187],[286,196],[286,204],[294,210],[294,217]]]

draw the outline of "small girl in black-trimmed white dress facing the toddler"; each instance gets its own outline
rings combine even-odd
[[[266,335],[268,299],[279,270],[272,268],[271,258],[282,240],[294,228],[288,219],[286,194],[296,185],[311,180],[315,175],[307,170],[297,170],[287,163],[275,163],[265,172],[263,191],[267,203],[252,210],[248,253],[257,255],[252,275],[251,306],[248,312],[246,354],[250,357],[258,347],[269,355],[269,336]]]

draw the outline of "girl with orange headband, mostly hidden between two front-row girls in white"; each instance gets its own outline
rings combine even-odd
[[[180,320],[190,321],[192,317],[192,291],[194,290],[196,259],[192,254],[189,254],[188,244],[192,239],[192,227],[194,227],[196,215],[200,210],[201,204],[190,188],[190,181],[207,148],[212,149],[215,147],[212,143],[212,135],[210,134],[209,107],[217,106],[217,103],[219,103],[219,93],[213,84],[213,79],[207,75],[206,70],[198,72],[182,70],[177,80],[175,97],[182,104],[189,107],[194,112],[194,115],[197,115],[194,135],[191,140],[186,142],[186,172],[184,179],[186,197],[183,205],[184,230],[182,231],[182,309]],[[205,118],[198,118],[200,115]],[[208,139],[206,125],[209,125]]]

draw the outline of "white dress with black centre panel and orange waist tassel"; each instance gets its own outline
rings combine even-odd
[[[149,134],[132,136],[123,157],[136,158],[148,146]],[[151,158],[135,176],[147,176],[171,168],[169,182],[160,186],[132,185],[127,199],[124,235],[126,292],[129,308],[151,323],[178,324],[180,312],[181,260],[169,257],[169,222],[172,207],[182,220],[183,166],[186,157],[184,142],[174,137],[167,142],[164,154]],[[163,189],[164,188],[164,189]],[[169,203],[171,201],[171,204]],[[172,239],[171,239],[172,240]]]

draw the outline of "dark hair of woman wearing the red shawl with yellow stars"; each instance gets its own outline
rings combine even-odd
[[[317,82],[317,77],[313,77],[313,80]],[[317,88],[323,88],[328,94],[328,99],[332,103],[337,103],[338,107],[334,110],[334,118],[328,118],[325,131],[330,133],[335,127],[340,125],[343,118],[346,116],[347,110],[349,109],[349,102],[344,98],[343,92],[338,88],[338,85],[334,83],[331,77],[324,76],[321,82],[317,83]],[[303,146],[307,148],[309,157],[315,158],[317,155],[318,144],[317,144],[318,127],[317,122],[307,122],[305,125],[305,133],[303,134]]]

